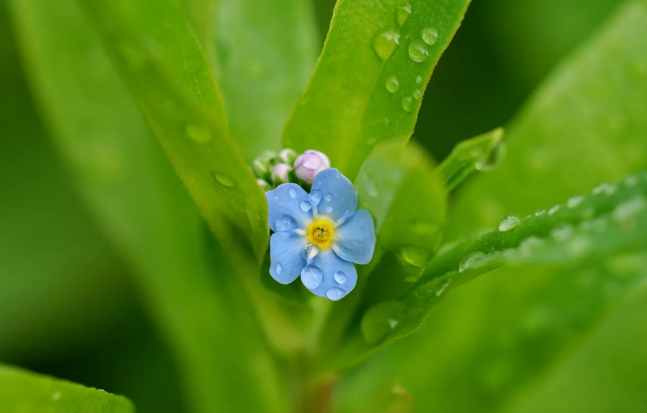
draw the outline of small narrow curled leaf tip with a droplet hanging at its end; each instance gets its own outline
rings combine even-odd
[[[459,142],[438,166],[446,190],[453,190],[474,171],[490,172],[505,157],[503,128]]]

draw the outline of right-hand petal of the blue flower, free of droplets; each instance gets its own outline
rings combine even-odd
[[[373,258],[375,229],[373,218],[367,210],[360,209],[346,219],[336,229],[335,236],[333,250],[342,260],[367,264]]]

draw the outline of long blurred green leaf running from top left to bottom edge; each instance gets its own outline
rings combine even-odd
[[[223,252],[205,245],[212,237],[199,212],[76,3],[11,5],[56,144],[132,265],[149,313],[175,351],[193,410],[285,411],[239,277]]]

